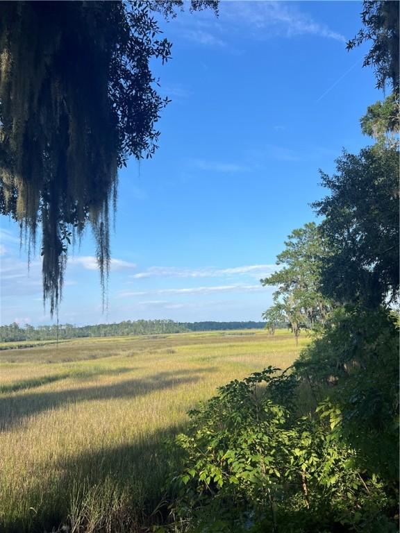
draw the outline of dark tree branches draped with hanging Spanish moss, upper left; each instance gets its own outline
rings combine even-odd
[[[167,104],[149,63],[171,55],[153,11],[182,1],[2,2],[0,208],[28,247],[40,227],[43,296],[51,314],[67,248],[90,224],[104,289],[117,168],[151,157]],[[192,9],[216,2],[192,1]]]

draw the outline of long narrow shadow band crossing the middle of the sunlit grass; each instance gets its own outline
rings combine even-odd
[[[213,368],[196,371],[158,372],[150,378],[124,380],[115,384],[81,387],[60,391],[36,392],[0,398],[0,430],[7,430],[24,421],[25,418],[62,405],[88,400],[135,398],[153,391],[172,389],[181,384],[199,381],[199,374],[212,372]]]

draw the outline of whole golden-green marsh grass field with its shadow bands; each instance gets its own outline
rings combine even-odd
[[[0,351],[0,531],[137,532],[176,464],[163,446],[219,385],[299,346],[287,332],[74,339]]]

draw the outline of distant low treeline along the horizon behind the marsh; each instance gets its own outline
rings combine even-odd
[[[16,322],[0,326],[0,341],[48,341],[74,339],[76,337],[119,337],[124,335],[158,335],[189,331],[249,330],[263,329],[265,322],[174,322],[173,320],[127,320],[113,324],[84,325],[73,324],[19,326]],[[58,332],[57,332],[58,329]]]

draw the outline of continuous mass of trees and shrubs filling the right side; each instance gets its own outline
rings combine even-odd
[[[170,530],[398,531],[399,3],[365,1],[363,23],[348,48],[371,40],[365,65],[393,89],[362,119],[377,142],[322,173],[322,223],[294,230],[261,280],[278,286],[269,330],[285,319],[313,341],[190,412]]]

